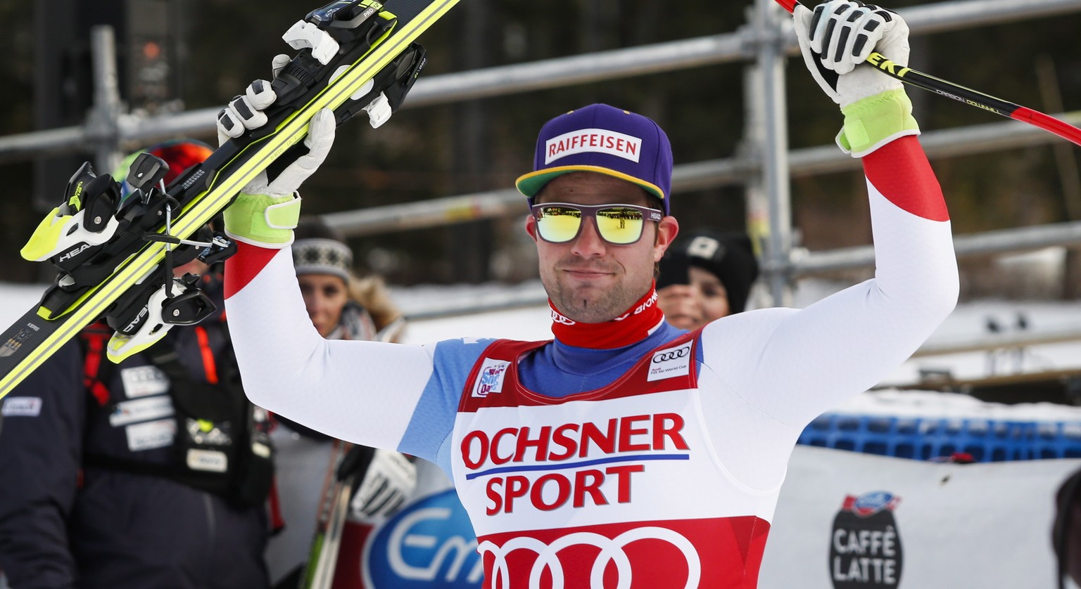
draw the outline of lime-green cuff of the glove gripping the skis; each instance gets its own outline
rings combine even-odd
[[[301,219],[301,198],[292,194],[238,194],[225,209],[225,232],[242,242],[263,247],[293,243],[293,229]]]

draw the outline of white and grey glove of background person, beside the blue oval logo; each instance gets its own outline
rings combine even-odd
[[[349,499],[353,518],[390,516],[416,490],[416,465],[405,454],[376,449],[372,462]]]

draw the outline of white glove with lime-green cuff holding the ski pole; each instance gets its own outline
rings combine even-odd
[[[863,2],[832,0],[812,11],[797,4],[796,37],[803,61],[823,91],[840,105],[838,145],[860,157],[905,135],[919,135],[904,84],[876,67],[856,67],[871,52],[908,63],[908,25],[898,14]]]

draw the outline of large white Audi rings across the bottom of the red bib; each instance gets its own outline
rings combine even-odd
[[[492,587],[519,586],[521,578],[510,576],[507,556],[515,550],[530,550],[535,552],[537,558],[530,570],[529,589],[539,589],[540,577],[545,571],[551,574],[552,589],[563,589],[565,575],[563,573],[563,565],[557,557],[559,551],[571,546],[593,546],[600,548],[600,553],[597,554],[593,565],[589,570],[589,587],[604,587],[604,569],[611,562],[615,564],[618,575],[616,589],[629,589],[632,577],[631,562],[624,548],[630,543],[642,539],[660,540],[675,546],[683,553],[683,559],[686,561],[688,578],[685,588],[698,587],[698,580],[702,578],[702,562],[698,560],[698,551],[695,550],[691,540],[686,539],[682,534],[666,528],[636,528],[614,538],[609,538],[593,532],[575,532],[556,539],[550,545],[537,538],[521,536],[511,538],[502,547],[496,546],[491,540],[484,540],[477,547],[477,551],[481,554],[491,552],[495,557],[495,562],[492,564],[491,571],[492,578],[490,579]],[[582,587],[582,580],[574,578],[571,581],[571,586]]]

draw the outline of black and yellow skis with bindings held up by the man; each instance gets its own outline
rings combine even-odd
[[[206,245],[187,238],[276,160],[290,161],[290,148],[304,139],[321,109],[333,109],[338,124],[361,111],[373,126],[385,121],[424,66],[424,50],[414,41],[457,1],[391,0],[385,8],[374,0],[342,0],[312,11],[283,36],[299,51],[273,82],[279,98],[266,111],[269,122],[226,142],[168,188],[144,184],[137,202],[118,198],[108,176],[80,169],[66,200],[24,248],[24,257],[49,260],[59,275],[39,304],[0,334],[0,398],[103,317],[117,330],[114,338],[129,344],[125,338],[141,329],[150,332],[152,343],[155,330],[190,323],[190,314],[165,306],[175,305],[178,291],[187,288],[165,275],[173,256],[193,258],[191,249]],[[142,163],[152,177],[155,163]],[[146,178],[130,174],[129,180]],[[174,321],[162,314],[166,309],[184,317]],[[148,329],[152,318],[161,323]],[[123,347],[114,343],[110,350]]]

